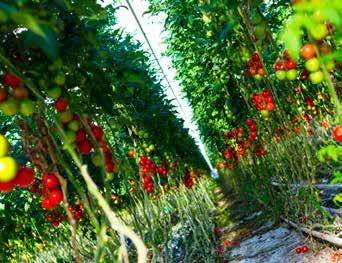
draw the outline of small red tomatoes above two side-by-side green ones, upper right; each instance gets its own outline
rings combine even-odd
[[[287,50],[283,52],[283,59],[278,60],[273,66],[279,80],[295,80],[297,78],[296,67],[296,62],[290,57]]]

